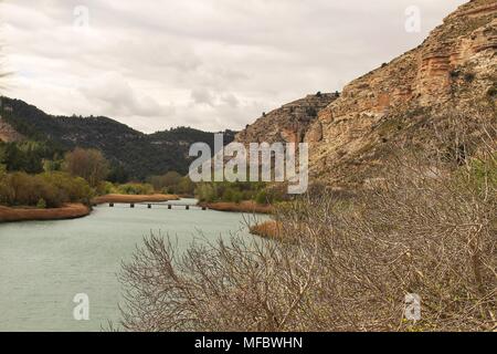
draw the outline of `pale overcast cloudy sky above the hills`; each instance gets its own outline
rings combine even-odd
[[[241,129],[419,45],[465,0],[3,0],[1,94],[152,133]]]

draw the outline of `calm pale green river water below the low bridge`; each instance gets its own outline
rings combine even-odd
[[[0,331],[99,331],[119,319],[116,274],[145,236],[173,236],[184,250],[200,231],[209,240],[250,237],[244,219],[211,210],[101,206],[82,219],[2,223]],[[89,298],[89,321],[73,317],[78,293]]]

